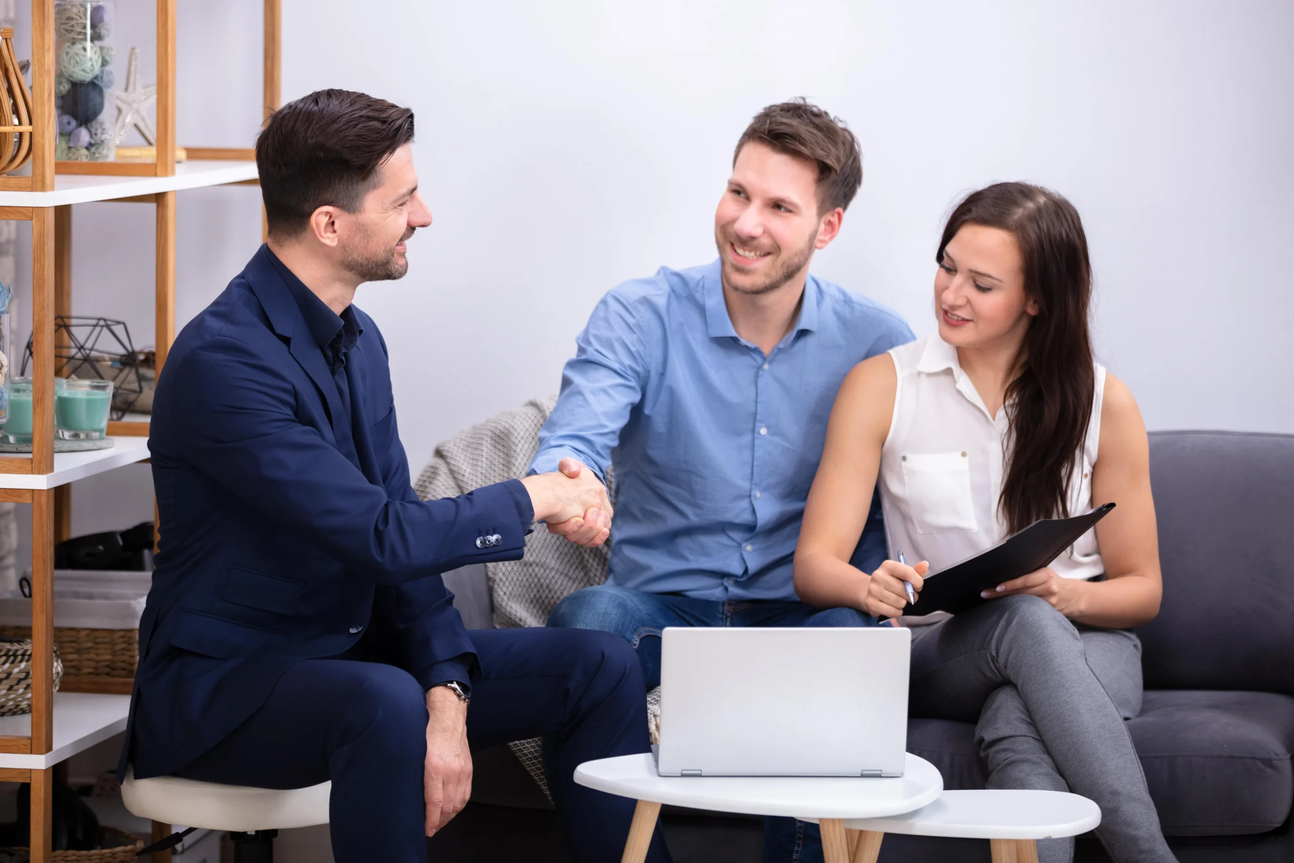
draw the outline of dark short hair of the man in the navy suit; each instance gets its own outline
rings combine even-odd
[[[269,233],[294,237],[325,204],[356,212],[378,168],[413,140],[413,111],[365,93],[321,89],[270,114],[256,138]]]

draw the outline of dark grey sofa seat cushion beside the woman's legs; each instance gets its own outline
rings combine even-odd
[[[1289,816],[1294,697],[1152,690],[1128,731],[1166,835],[1263,833]]]

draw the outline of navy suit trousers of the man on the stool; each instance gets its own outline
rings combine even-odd
[[[642,669],[608,633],[472,630],[472,749],[545,737],[549,784],[575,863],[620,859],[634,801],[575,784],[576,766],[648,752]],[[333,780],[338,863],[427,859],[423,807],[427,704],[405,670],[348,659],[303,660],[269,700],[181,776],[261,788]],[[669,854],[657,827],[648,860]]]

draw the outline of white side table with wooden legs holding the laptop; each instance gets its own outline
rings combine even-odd
[[[659,776],[651,754],[589,761],[581,785],[638,801],[621,863],[642,863],[661,803],[747,815],[789,815],[822,825],[827,863],[850,863],[845,819],[884,818],[920,809],[943,791],[934,765],[911,753],[895,779],[863,776]]]

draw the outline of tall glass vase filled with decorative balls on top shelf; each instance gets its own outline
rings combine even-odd
[[[57,159],[111,162],[115,151],[113,48],[115,4],[87,0],[54,3],[54,107]]]

